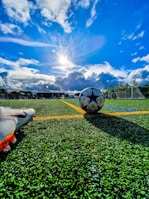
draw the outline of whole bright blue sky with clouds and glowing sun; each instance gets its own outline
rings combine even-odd
[[[0,1],[0,87],[149,83],[148,0]]]

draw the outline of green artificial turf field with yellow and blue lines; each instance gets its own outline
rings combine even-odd
[[[0,154],[0,198],[148,199],[149,99],[108,100],[87,115],[77,99],[0,100],[34,120]]]

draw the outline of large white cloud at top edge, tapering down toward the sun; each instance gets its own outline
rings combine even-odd
[[[60,24],[67,33],[72,31],[67,16],[71,0],[36,0],[36,2],[43,17]]]

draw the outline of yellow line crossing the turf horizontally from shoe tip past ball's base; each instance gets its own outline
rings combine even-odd
[[[101,114],[100,114],[101,113]],[[113,112],[113,113],[102,113],[98,114],[76,114],[76,115],[53,115],[53,116],[35,116],[33,120],[53,120],[53,119],[75,119],[75,118],[93,118],[105,116],[124,116],[124,115],[148,115],[149,111],[138,111],[138,112]]]

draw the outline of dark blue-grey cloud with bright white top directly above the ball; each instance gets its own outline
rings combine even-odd
[[[73,71],[65,77],[57,77],[55,84],[63,90],[82,90],[85,87],[95,86],[105,89],[126,81],[126,72],[115,70],[108,62],[86,66]]]

